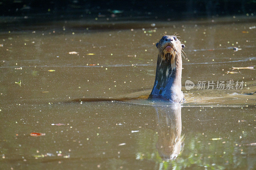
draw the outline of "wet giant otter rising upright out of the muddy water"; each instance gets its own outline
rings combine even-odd
[[[172,102],[184,101],[181,92],[182,48],[176,36],[165,35],[156,43],[158,49],[156,79],[149,98],[160,97]]]

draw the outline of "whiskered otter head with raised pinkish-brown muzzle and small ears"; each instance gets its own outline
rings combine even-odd
[[[178,61],[181,61],[181,51],[185,45],[181,44],[176,36],[165,35],[158,43],[156,43],[156,47],[158,48],[162,60],[175,67],[179,64]]]

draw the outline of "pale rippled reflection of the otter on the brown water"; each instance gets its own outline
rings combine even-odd
[[[155,107],[158,119],[156,149],[163,160],[174,160],[184,143],[181,136],[181,107]]]

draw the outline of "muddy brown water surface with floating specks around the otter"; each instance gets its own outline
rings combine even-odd
[[[232,70],[256,65],[255,18],[81,25],[2,29],[1,169],[256,168],[256,95],[244,94],[256,70]],[[186,103],[114,100],[150,94],[165,32],[186,45]],[[186,80],[244,83],[186,90]],[[88,98],[113,100],[70,102]]]

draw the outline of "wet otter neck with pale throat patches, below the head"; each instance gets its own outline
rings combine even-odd
[[[182,60],[175,54],[171,56],[171,61],[164,59],[162,54],[158,54],[156,66],[156,79],[150,95],[161,96],[164,99],[180,103],[183,100],[181,92],[181,71]]]

